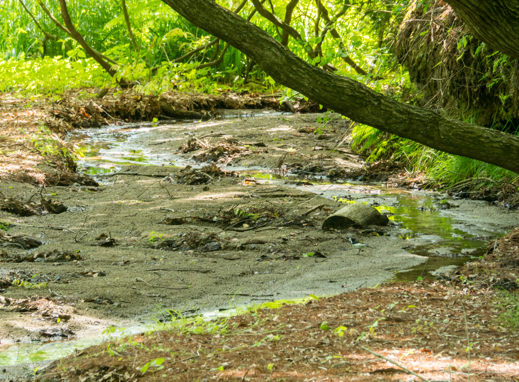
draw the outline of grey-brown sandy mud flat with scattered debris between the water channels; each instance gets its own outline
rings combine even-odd
[[[320,153],[316,159],[308,160],[289,151],[294,146],[298,152],[304,151],[301,146],[310,146],[310,151],[315,144],[308,139],[309,134],[297,133],[308,125],[307,121],[299,122],[299,118],[293,118],[299,126],[289,125],[293,122],[283,116],[258,118],[250,124],[238,119],[157,126],[141,133],[138,140],[139,145],[152,148],[148,157],[161,155],[161,160],[167,161],[171,159],[168,155],[173,155],[180,157],[183,164],[193,155],[209,152],[220,155],[222,162],[231,163],[230,168],[240,163],[243,168],[245,161],[251,166],[261,162],[263,168],[272,168],[281,159],[338,167],[334,160],[321,160]],[[316,118],[311,116],[314,125]],[[233,126],[233,138],[219,137],[220,146],[211,146],[209,139],[198,139],[207,142],[209,149],[170,154],[188,146],[195,134],[211,134],[217,124]],[[167,142],[179,130],[181,138],[175,139],[174,144],[154,145]],[[268,137],[270,152],[254,152],[255,149],[237,143],[235,139],[243,135],[249,139],[259,137],[258,142],[267,141]],[[290,145],[284,143],[287,136],[294,137]],[[135,140],[130,139],[126,145],[134,145]],[[234,158],[229,159],[230,155]],[[308,152],[307,156],[310,155]],[[91,329],[81,316],[107,326],[144,317],[167,318],[168,310],[206,312],[254,302],[304,298],[309,293],[339,293],[366,283],[379,284],[393,272],[423,261],[404,249],[409,246],[407,241],[391,235],[397,230],[392,226],[381,228],[388,236],[380,236],[376,243],[371,243],[376,253],[383,248],[383,256],[357,256],[347,238],[361,239],[368,233],[321,230],[324,218],[343,207],[342,203],[305,191],[311,185],[309,182],[298,185],[289,181],[291,184],[283,185],[271,184],[269,179],[237,176],[218,169],[223,164],[215,159],[216,165],[205,170],[124,166],[117,173],[122,175],[99,177],[104,183],[99,187],[73,184],[42,190],[26,183],[2,182],[0,191],[6,197],[25,202],[33,196],[34,202],[55,200],[67,208],[61,214],[23,218],[13,217],[5,208],[0,211],[2,222],[11,224],[5,236],[34,238],[43,243],[26,250],[6,238],[0,259],[2,273],[34,284],[27,286],[34,295],[41,295],[43,289],[67,301],[66,305],[74,304],[73,308],[58,309],[58,314],[72,317],[60,324],[54,322],[56,317],[52,314],[34,321],[32,314],[42,316],[49,309],[33,304],[28,322],[22,324],[18,306],[28,304],[23,302],[28,290],[6,289],[4,296],[12,308],[0,323],[3,342],[9,338],[12,342],[39,339],[42,331],[67,337],[72,332]],[[345,165],[345,159],[337,160]],[[357,158],[348,163],[359,166]],[[40,204],[32,209],[38,210]],[[316,206],[321,208],[303,215]],[[308,252],[322,258],[305,256]],[[38,289],[42,282],[47,282],[46,287]]]

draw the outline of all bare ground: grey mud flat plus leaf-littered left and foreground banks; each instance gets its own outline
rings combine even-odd
[[[77,140],[59,121],[49,122],[53,106],[5,98],[0,110],[0,222],[9,229],[0,232],[0,346],[149,318],[167,329],[173,317],[176,329],[84,349],[55,361],[38,380],[416,378],[381,355],[427,379],[519,375],[519,341],[512,319],[502,319],[514,303],[493,289],[517,287],[519,234],[496,239],[485,259],[444,280],[360,288],[423,262],[407,251],[419,240],[400,238],[391,225],[376,237],[360,228],[323,232],[324,218],[343,203],[307,191],[304,179],[276,183],[233,172],[262,167],[404,186],[421,180],[406,179],[399,164],[366,165],[362,155],[336,147],[351,133],[349,121],[332,118],[322,128],[317,115],[218,111],[209,121],[148,123],[139,145],[147,157],[173,165],[126,165],[94,180],[71,171]],[[508,227],[517,222],[509,218]],[[348,236],[373,249],[357,256]],[[251,308],[217,323],[178,319],[179,312],[320,290],[337,295]],[[0,379],[15,378],[0,371]]]

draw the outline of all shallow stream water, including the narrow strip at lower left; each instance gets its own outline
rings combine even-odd
[[[197,165],[192,161],[181,158],[165,151],[162,154],[151,154],[149,147],[139,144],[139,136],[162,128],[178,128],[178,134],[173,133],[167,142],[173,141],[173,146],[180,146],[185,140],[186,131],[183,124],[148,124],[131,125],[120,128],[111,126],[104,129],[89,129],[75,134],[73,139],[80,142],[80,152],[84,155],[80,165],[90,175],[117,171],[121,165],[165,165],[185,166]],[[176,142],[178,144],[176,144]],[[166,141],[164,141],[166,142]],[[200,165],[200,164],[198,164]],[[226,167],[229,170],[238,170],[244,176],[255,176],[256,179],[268,181],[272,184],[284,184],[287,181],[306,180],[312,186],[297,186],[305,191],[323,194],[331,200],[345,203],[365,203],[374,205],[381,213],[390,213],[390,220],[398,225],[398,235],[402,240],[420,240],[420,245],[411,245],[407,249],[418,256],[427,257],[424,264],[395,273],[394,279],[411,281],[417,277],[434,277],[433,272],[445,266],[459,266],[471,259],[483,256],[488,237],[506,233],[506,227],[499,222],[499,218],[478,215],[473,207],[466,207],[463,202],[452,201],[446,195],[433,192],[408,191],[401,189],[386,189],[361,182],[326,182],[322,178],[301,178],[290,175],[272,174],[265,169],[243,169]],[[444,200],[449,203],[460,204],[460,207],[440,209]],[[474,202],[473,202],[474,203]],[[479,202],[475,202],[479,203]],[[483,205],[484,202],[481,202]],[[500,214],[507,214],[500,210]],[[236,313],[236,312],[235,312]],[[207,317],[215,317],[213,312]],[[230,313],[227,313],[230,314]],[[37,364],[69,355],[76,349],[82,349],[99,344],[109,337],[126,334],[135,334],[143,331],[164,329],[163,324],[148,324],[130,329],[117,329],[110,335],[103,335],[101,331],[87,333],[88,336],[74,338],[71,341],[56,341],[47,343],[33,343],[12,345],[0,352],[1,365]],[[0,374],[0,379],[2,379]]]

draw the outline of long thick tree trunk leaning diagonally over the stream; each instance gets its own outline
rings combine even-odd
[[[247,54],[277,82],[353,121],[519,173],[519,137],[394,101],[350,78],[312,66],[212,0],[162,1],[194,25]]]

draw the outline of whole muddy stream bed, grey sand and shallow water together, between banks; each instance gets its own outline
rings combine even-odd
[[[44,196],[67,207],[62,214],[22,218],[0,211],[13,223],[9,235],[43,243],[28,250],[4,247],[9,257],[43,255],[31,262],[0,263],[3,277],[14,272],[32,282],[29,289],[2,291],[0,365],[10,367],[0,379],[98,343],[110,326],[129,328],[126,334],[142,332],[179,313],[214,315],[390,279],[434,277],[482,256],[489,239],[518,225],[517,211],[487,202],[283,171],[310,157],[319,162],[319,155],[342,138],[344,120],[329,123],[318,135],[305,133],[321,126],[318,115],[242,112],[234,117],[75,132],[69,138],[84,155],[80,171],[100,186],[46,188]],[[228,153],[227,159],[204,147],[178,152],[190,138],[209,147],[226,135],[247,152]],[[229,142],[224,150],[233,146]],[[208,164],[193,157],[217,158],[218,167],[235,174],[179,183],[183,167]],[[321,158],[342,168],[363,164],[351,153]],[[280,161],[281,169],[274,170]],[[140,175],[106,176],[114,172]],[[37,192],[23,183],[2,187],[4,194],[22,198]],[[323,232],[325,217],[346,203],[373,205],[390,224]],[[324,209],[302,216],[321,204]],[[250,220],[229,227],[233,215]],[[358,255],[348,237],[373,248]],[[5,305],[5,299],[10,303]]]

